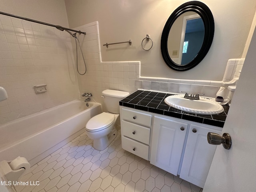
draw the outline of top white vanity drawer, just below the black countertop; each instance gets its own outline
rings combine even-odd
[[[145,114],[133,110],[122,109],[122,118],[124,120],[134,122],[136,124],[144,125],[144,126],[151,126],[151,118],[150,114]]]

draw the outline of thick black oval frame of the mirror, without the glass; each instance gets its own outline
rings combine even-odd
[[[201,49],[199,50],[198,54],[196,57],[189,62],[186,65],[178,65],[172,61],[170,58],[170,55],[168,53],[168,48],[167,48],[167,41],[168,41],[168,36],[170,29],[172,27],[172,24],[174,21],[183,13],[192,11],[196,12],[198,15],[201,16],[203,22],[204,22],[204,42],[202,44]],[[186,71],[189,70],[196,65],[198,65],[203,58],[206,56],[208,53],[211,45],[212,45],[212,40],[214,36],[214,18],[212,15],[211,10],[206,6],[206,4],[199,2],[199,1],[190,1],[182,4],[179,6],[174,12],[170,15],[168,20],[166,21],[166,24],[164,26],[163,32],[162,32],[162,37],[161,37],[161,52],[162,52],[162,57],[165,61],[165,63],[172,68],[173,70],[176,71]]]

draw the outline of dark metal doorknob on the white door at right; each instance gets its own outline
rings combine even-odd
[[[232,145],[232,140],[228,133],[224,133],[222,136],[220,136],[219,134],[208,132],[207,141],[212,145],[222,144],[225,149],[230,149]]]

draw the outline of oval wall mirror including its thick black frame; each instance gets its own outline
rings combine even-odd
[[[174,10],[164,26],[163,59],[174,70],[189,70],[206,56],[213,36],[214,19],[210,9],[198,1],[184,3]]]

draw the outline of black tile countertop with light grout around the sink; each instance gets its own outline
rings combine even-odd
[[[228,105],[224,105],[224,112],[218,115],[200,115],[183,112],[165,104],[164,99],[170,95],[153,91],[137,90],[119,102],[120,106],[134,108],[142,111],[171,116],[179,119],[194,121],[217,127],[223,127],[227,114]]]

